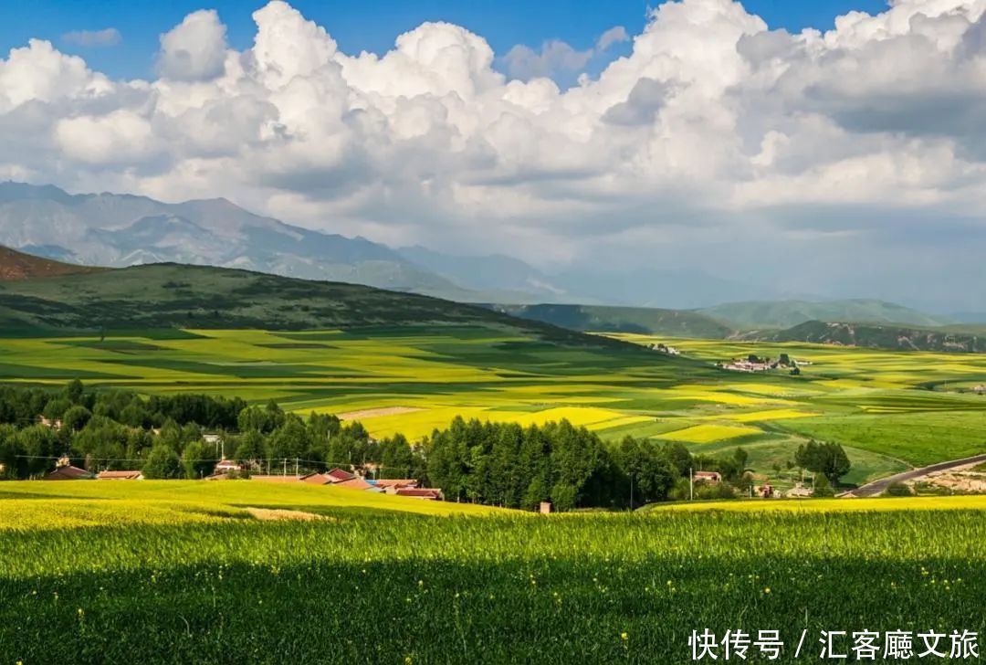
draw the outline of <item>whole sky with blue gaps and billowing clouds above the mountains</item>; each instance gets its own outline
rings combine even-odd
[[[4,3],[0,180],[225,196],[547,270],[986,308],[984,12]]]

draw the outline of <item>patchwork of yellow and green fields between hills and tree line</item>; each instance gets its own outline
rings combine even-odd
[[[609,439],[742,446],[764,475],[810,437],[846,447],[859,483],[986,450],[986,357],[795,343],[613,334],[683,356],[554,344],[495,326],[346,331],[169,330],[0,338],[0,381],[145,394],[277,400],[358,418],[378,437],[415,440],[456,416],[540,424],[567,418]],[[802,375],[718,370],[733,357],[803,362]]]

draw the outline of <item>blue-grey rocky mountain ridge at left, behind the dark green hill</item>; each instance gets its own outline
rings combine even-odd
[[[0,244],[89,265],[175,261],[479,299],[383,245],[284,224],[225,199],[163,203],[4,183]]]

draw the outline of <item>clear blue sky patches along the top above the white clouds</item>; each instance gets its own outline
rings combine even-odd
[[[113,77],[153,74],[158,37],[188,13],[216,9],[229,29],[231,45],[249,45],[254,26],[250,14],[263,3],[235,0],[34,0],[0,4],[0,53],[27,43],[31,37],[50,40],[60,50],[84,56],[90,66]],[[590,47],[599,35],[623,26],[638,34],[645,23],[647,2],[609,0],[362,0],[324,2],[293,0],[306,17],[325,27],[342,49],[386,51],[394,37],[425,21],[448,21],[485,37],[498,55],[515,44],[536,48],[547,39],[561,39],[577,49]],[[800,31],[805,27],[826,30],[836,16],[851,10],[870,13],[885,8],[883,0],[746,0],[747,11],[761,16],[772,28]],[[73,31],[115,28],[119,43],[109,47],[80,46],[63,36]],[[610,56],[620,54],[619,47]],[[599,64],[599,63],[597,63]]]

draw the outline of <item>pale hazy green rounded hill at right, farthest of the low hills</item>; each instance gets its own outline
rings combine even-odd
[[[870,324],[897,324],[934,328],[953,323],[945,317],[913,310],[882,300],[806,300],[748,301],[706,307],[697,312],[732,324],[740,330],[785,329],[809,321],[854,321]]]

